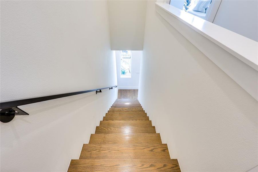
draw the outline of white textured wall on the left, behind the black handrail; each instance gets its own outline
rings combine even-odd
[[[1,1],[1,101],[117,84],[106,1]],[[117,97],[20,106],[1,123],[1,171],[66,171]]]

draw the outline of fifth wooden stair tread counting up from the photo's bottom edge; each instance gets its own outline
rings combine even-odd
[[[152,126],[151,121],[100,121],[99,126]]]

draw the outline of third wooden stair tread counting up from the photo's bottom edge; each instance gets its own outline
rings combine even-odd
[[[159,133],[144,134],[91,134],[89,144],[106,143],[160,143],[162,144]]]

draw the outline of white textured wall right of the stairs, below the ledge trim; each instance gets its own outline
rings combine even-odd
[[[154,2],[147,4],[138,99],[171,158],[182,171],[253,168],[257,101],[157,14]]]

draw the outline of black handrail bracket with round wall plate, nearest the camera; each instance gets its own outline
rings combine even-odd
[[[19,107],[10,107],[0,111],[0,121],[7,123],[13,120],[15,115],[29,115],[27,112],[21,110]]]

